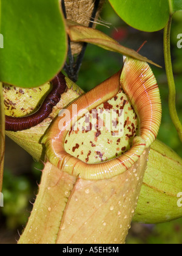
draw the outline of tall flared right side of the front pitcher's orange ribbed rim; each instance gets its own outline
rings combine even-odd
[[[148,148],[156,140],[161,124],[161,98],[157,80],[146,62],[124,58],[121,87],[140,119],[140,136]]]

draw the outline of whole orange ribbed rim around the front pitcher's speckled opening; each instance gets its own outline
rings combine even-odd
[[[133,139],[129,151],[120,157],[96,164],[85,163],[68,154],[64,142],[70,128],[86,111],[115,97],[121,88],[132,104],[140,126],[139,134]],[[72,104],[77,105],[76,115],[73,113]],[[161,123],[160,92],[152,69],[146,62],[125,57],[121,71],[76,99],[72,104],[66,108],[71,118],[63,123],[63,117],[58,116],[42,140],[46,146],[49,162],[72,176],[87,180],[110,179],[117,176],[132,167],[157,137]]]

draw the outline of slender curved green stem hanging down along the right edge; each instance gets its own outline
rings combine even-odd
[[[170,53],[170,30],[172,24],[172,15],[169,18],[169,21],[164,28],[164,60],[166,65],[166,74],[169,85],[169,112],[170,117],[174,123],[175,128],[177,129],[178,135],[182,142],[182,125],[180,119],[178,118],[177,108],[176,108],[176,89],[175,89],[175,80],[174,74],[172,71],[172,62],[171,62],[171,53]]]

